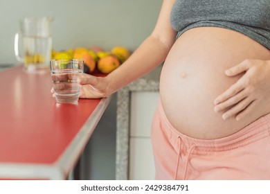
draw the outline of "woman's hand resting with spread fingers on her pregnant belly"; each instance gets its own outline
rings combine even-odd
[[[270,61],[244,60],[225,73],[229,77],[244,75],[214,101],[215,112],[224,111],[224,120],[235,116],[239,121],[265,99],[270,99]]]

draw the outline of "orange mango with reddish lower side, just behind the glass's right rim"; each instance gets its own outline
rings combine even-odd
[[[91,57],[87,48],[75,48],[73,52],[73,58],[84,60],[84,64],[89,67],[90,73],[92,73],[96,69],[96,61]]]

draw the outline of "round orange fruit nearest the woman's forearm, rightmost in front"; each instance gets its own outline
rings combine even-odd
[[[98,70],[101,73],[111,73],[120,66],[118,58],[114,55],[107,55],[98,61]]]

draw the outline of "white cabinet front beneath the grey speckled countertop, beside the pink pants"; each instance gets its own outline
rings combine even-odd
[[[131,94],[129,179],[154,179],[150,130],[158,100],[157,91],[135,91]]]

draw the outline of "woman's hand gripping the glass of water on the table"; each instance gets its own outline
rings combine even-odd
[[[107,98],[111,94],[109,92],[109,84],[105,78],[83,73],[77,81],[82,85],[80,98]],[[53,88],[51,89],[51,93],[53,93],[53,97],[55,97]]]

